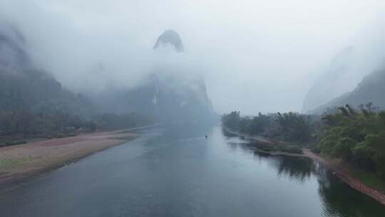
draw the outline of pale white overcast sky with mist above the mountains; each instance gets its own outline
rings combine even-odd
[[[215,110],[253,114],[300,111],[332,57],[364,39],[366,29],[383,28],[384,6],[381,0],[1,0],[0,19],[19,25],[36,63],[77,91],[134,85],[148,70],[156,38],[174,29],[187,65],[205,76]]]

